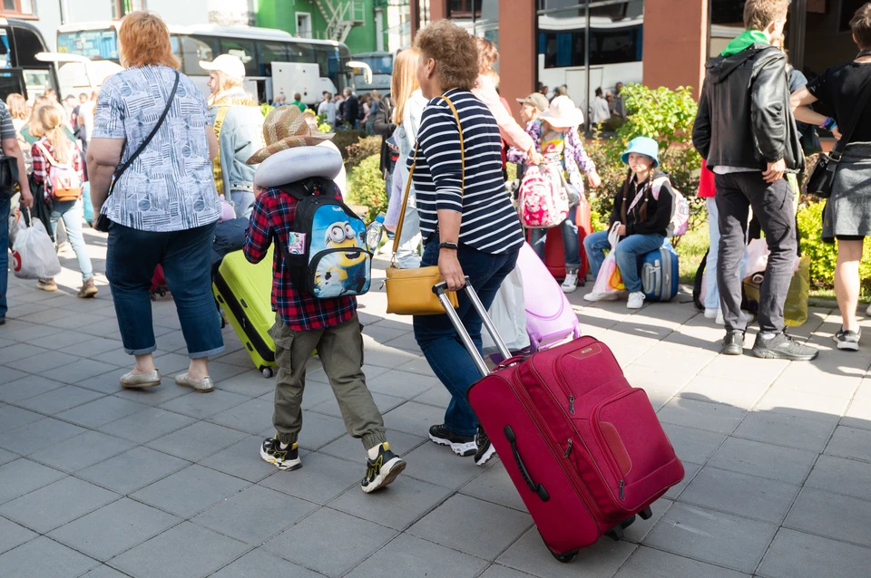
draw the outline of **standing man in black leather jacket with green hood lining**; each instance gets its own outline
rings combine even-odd
[[[726,322],[723,353],[741,355],[747,318],[741,312],[739,263],[749,207],[768,249],[759,299],[760,358],[809,361],[817,350],[784,331],[783,306],[796,258],[795,208],[785,174],[804,169],[796,121],[789,107],[786,55],[771,45],[783,33],[789,0],[748,0],[743,34],[705,65],[692,141],[716,174],[719,211],[717,284]]]

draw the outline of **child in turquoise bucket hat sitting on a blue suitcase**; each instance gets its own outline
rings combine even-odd
[[[638,137],[631,140],[629,149],[621,156],[629,165],[629,174],[614,197],[611,226],[620,223],[620,244],[615,249],[617,268],[629,299],[626,306],[641,309],[644,294],[641,292],[641,276],[638,274],[639,259],[659,249],[669,236],[674,192],[668,175],[659,166],[659,145],[656,140]],[[609,227],[610,229],[611,227]],[[611,248],[608,231],[598,231],[583,239],[583,248],[590,261],[592,276],[599,275],[605,259],[605,250]],[[595,291],[583,296],[587,301],[617,299],[618,294],[600,294]]]

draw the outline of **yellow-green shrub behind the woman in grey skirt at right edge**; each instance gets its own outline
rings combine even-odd
[[[837,248],[823,243],[823,208],[826,203],[813,201],[798,209],[798,238],[801,254],[810,257],[810,283],[815,289],[830,289],[835,281]],[[871,292],[871,245],[866,244],[859,265],[862,293]]]

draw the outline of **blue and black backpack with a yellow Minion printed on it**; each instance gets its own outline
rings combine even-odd
[[[288,244],[281,246],[293,286],[320,299],[365,294],[372,279],[366,224],[334,196],[336,184],[307,178],[281,190],[298,201]]]

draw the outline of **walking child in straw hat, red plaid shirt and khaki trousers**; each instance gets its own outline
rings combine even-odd
[[[295,106],[281,107],[269,112],[264,120],[263,134],[266,147],[254,153],[248,160],[249,164],[261,163],[276,153],[282,156],[290,153],[293,156],[293,153],[298,152],[300,159],[280,159],[280,163],[271,164],[263,162],[258,169],[258,175],[261,173],[260,169],[264,169],[262,173],[266,174],[269,172],[267,169],[278,166],[279,169],[286,169],[289,176],[284,181],[287,182],[286,185],[269,186],[265,190],[257,188],[258,197],[254,203],[244,246],[248,260],[258,263],[267,255],[273,239],[276,242],[272,286],[272,306],[276,311],[276,323],[269,330],[269,335],[275,342],[275,361],[279,365],[275,384],[275,412],[272,417],[277,434],[263,442],[260,457],[279,469],[293,470],[302,467],[297,443],[299,430],[302,429],[300,403],[305,388],[306,363],[317,349],[345,419],[347,433],[362,439],[363,447],[367,450],[366,475],[361,488],[364,492],[372,492],[393,482],[405,469],[406,462],[390,450],[384,421],[366,386],[366,376],[362,370],[363,336],[362,325],[357,318],[357,299],[353,293],[351,296],[342,293],[335,297],[316,297],[309,291],[310,284],[300,286],[299,281],[294,281],[298,279],[300,269],[304,273],[306,267],[288,265],[292,257],[297,256],[297,251],[315,245],[318,240],[312,234],[307,244],[304,234],[298,232],[298,225],[304,222],[298,219],[303,219],[308,213],[300,208],[298,215],[297,207],[304,206],[306,200],[305,197],[300,199],[288,191],[298,194],[302,188],[299,181],[306,178],[307,184],[317,183],[317,189],[309,190],[309,194],[328,196],[330,201],[324,201],[325,203],[333,202],[331,199],[334,198],[341,200],[341,193],[333,181],[329,180],[338,174],[341,157],[334,151],[318,149],[318,153],[324,151],[323,154],[338,157],[335,159],[336,167],[324,169],[313,166],[311,158],[314,149],[295,149],[293,153],[288,150],[313,147],[333,136],[317,130],[312,131],[303,113]],[[319,156],[323,158],[323,154]],[[279,160],[279,157],[273,159],[275,160]],[[301,174],[305,171],[308,174]],[[271,173],[273,178],[274,172],[273,170]],[[255,176],[255,183],[260,183],[258,176]],[[327,188],[332,190],[326,190]],[[344,210],[344,206],[338,207]],[[356,235],[351,235],[353,232],[354,226],[343,222],[338,227],[330,226],[327,238],[328,241],[338,243],[338,236],[341,236],[342,243],[347,241],[347,245],[343,246],[351,251],[352,244],[356,243]],[[319,237],[323,243],[322,232]],[[333,255],[345,257],[348,253],[336,253],[334,249]]]

